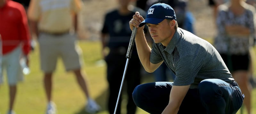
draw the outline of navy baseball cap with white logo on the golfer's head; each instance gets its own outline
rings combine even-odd
[[[158,24],[164,19],[176,20],[175,12],[168,4],[156,3],[148,9],[146,19],[140,23],[139,27],[142,27],[146,23]]]

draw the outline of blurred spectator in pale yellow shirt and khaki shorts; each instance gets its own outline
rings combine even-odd
[[[40,46],[41,70],[44,72],[44,88],[48,100],[46,114],[55,114],[52,102],[52,73],[57,58],[61,57],[66,71],[72,71],[82,88],[87,105],[85,110],[96,113],[100,106],[91,99],[87,83],[81,72],[82,51],[77,44],[77,13],[83,3],[80,0],[31,0],[28,7],[28,19],[31,32],[37,36]],[[75,33],[70,30],[74,28]]]

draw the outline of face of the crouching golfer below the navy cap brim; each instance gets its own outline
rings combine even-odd
[[[161,42],[164,45],[165,43],[168,44],[170,42],[169,38],[172,37],[171,22],[164,19],[158,24],[147,23],[147,26],[155,43]]]

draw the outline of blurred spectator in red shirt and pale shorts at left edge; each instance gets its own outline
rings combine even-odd
[[[16,84],[18,81],[23,80],[20,58],[26,58],[28,65],[31,35],[26,11],[22,4],[12,0],[0,0],[0,17],[2,68],[6,69],[10,88],[8,114],[15,114],[13,104],[16,96]],[[0,83],[2,81],[0,79]]]

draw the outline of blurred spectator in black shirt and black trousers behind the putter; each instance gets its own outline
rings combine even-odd
[[[139,11],[145,16],[146,12],[138,7],[131,6],[132,0],[118,0],[118,7],[108,11],[104,18],[104,24],[101,31],[102,36],[102,54],[107,63],[107,80],[109,87],[108,96],[108,112],[113,114],[116,107],[119,89],[124,73],[126,52],[130,42],[132,31],[129,26],[131,17],[135,11]],[[109,53],[105,52],[109,49]],[[134,88],[140,84],[141,80],[141,64],[137,54],[136,44],[132,49],[132,57],[129,59],[127,71],[124,80],[124,89],[127,90],[127,114],[135,114],[136,105],[132,99]],[[120,100],[117,106],[116,114],[121,113],[121,101],[123,92],[121,92]]]

